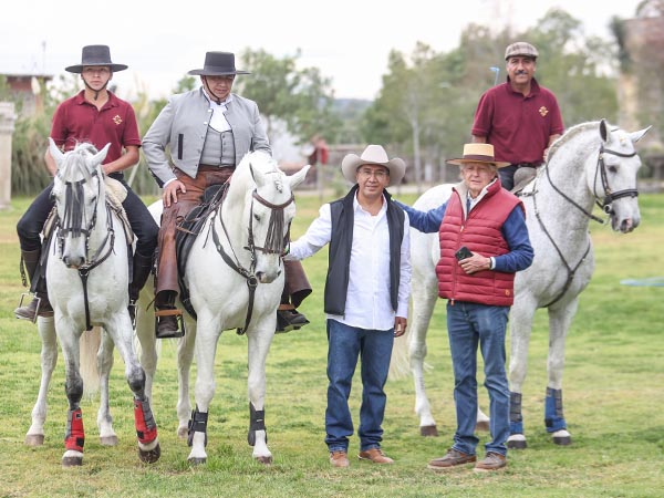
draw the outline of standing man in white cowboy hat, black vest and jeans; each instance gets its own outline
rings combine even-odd
[[[408,217],[386,188],[398,185],[405,163],[390,159],[380,145],[349,154],[343,176],[349,194],[320,208],[307,234],[290,245],[287,259],[304,259],[330,243],[324,311],[328,325],[325,443],[330,463],[347,467],[353,419],[349,395],[362,357],[359,458],[392,464],[381,449],[384,392],[394,338],[404,334],[411,293]]]

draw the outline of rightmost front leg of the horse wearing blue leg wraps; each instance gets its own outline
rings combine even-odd
[[[567,307],[549,310],[549,357],[547,372],[549,385],[544,402],[544,424],[557,445],[569,445],[572,437],[567,429],[562,411],[562,371],[564,369],[564,341],[579,301],[574,299]]]

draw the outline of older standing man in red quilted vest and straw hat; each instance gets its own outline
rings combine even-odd
[[[485,364],[489,393],[491,438],[486,457],[475,470],[507,465],[509,437],[509,386],[505,370],[505,333],[513,302],[515,273],[532,262],[523,204],[501,188],[490,144],[466,144],[464,156],[448,160],[461,169],[463,181],[449,199],[427,212],[401,205],[411,226],[438,232],[440,260],[436,264],[438,295],[447,299],[447,334],[454,366],[457,429],[454,445],[444,457],[429,461],[446,470],[477,460],[477,346]]]

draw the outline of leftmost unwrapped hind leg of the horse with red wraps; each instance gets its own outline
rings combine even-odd
[[[37,403],[32,408],[32,424],[25,434],[25,444],[28,446],[41,446],[44,444],[44,423],[46,422],[49,384],[53,376],[53,370],[58,363],[58,338],[53,326],[53,318],[42,318],[37,320],[39,335],[42,340],[41,349],[41,384]]]

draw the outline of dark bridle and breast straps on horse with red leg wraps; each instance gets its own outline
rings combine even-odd
[[[84,225],[85,209],[83,208],[83,185],[86,179],[83,178],[77,181],[65,181],[60,172],[58,177],[64,181],[65,195],[64,195],[64,212],[62,219],[55,220],[55,238],[58,240],[58,247],[60,249],[60,259],[64,258],[64,238],[68,234],[71,234],[72,238],[85,237],[85,262],[77,268],[79,277],[83,286],[83,300],[85,303],[85,330],[92,330],[90,321],[90,300],[87,297],[87,277],[90,271],[103,263],[113,252],[115,245],[115,230],[113,229],[112,211],[106,204],[106,235],[96,252],[92,258],[87,258],[90,252],[90,236],[96,226],[98,201],[102,191],[102,181],[98,175],[97,178],[97,195],[94,204],[94,210],[90,224]],[[104,251],[106,248],[106,251]],[[103,252],[103,253],[102,253]]]

